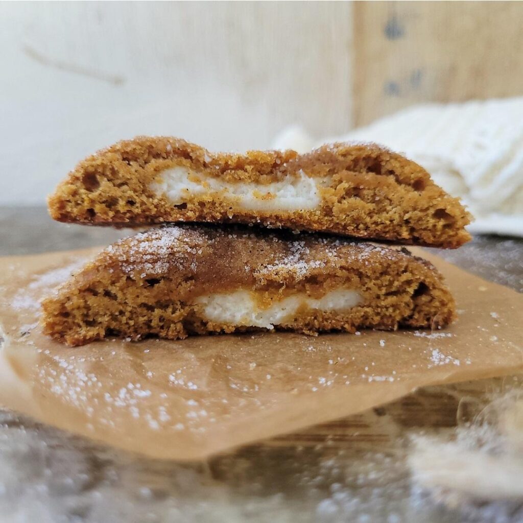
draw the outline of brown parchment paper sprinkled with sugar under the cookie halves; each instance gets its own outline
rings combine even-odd
[[[413,249],[416,250],[416,249]],[[523,370],[523,295],[426,252],[459,319],[444,331],[111,340],[43,336],[38,300],[96,249],[0,258],[0,404],[106,444],[204,459],[429,384]]]

